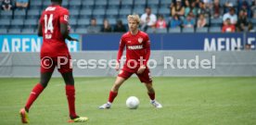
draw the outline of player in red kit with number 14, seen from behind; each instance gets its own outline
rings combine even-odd
[[[29,123],[28,113],[32,103],[41,94],[50,81],[56,67],[66,83],[66,95],[70,109],[69,122],[84,122],[85,117],[79,117],[75,111],[75,88],[70,67],[70,52],[65,39],[78,41],[69,35],[69,10],[60,6],[62,0],[51,0],[52,5],[43,12],[38,25],[38,35],[43,36],[41,48],[41,79],[32,89],[26,105],[20,109],[22,123]],[[67,63],[65,63],[67,61]]]

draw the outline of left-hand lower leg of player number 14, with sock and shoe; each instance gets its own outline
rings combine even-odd
[[[22,123],[29,123],[29,116],[28,116],[29,110],[33,102],[39,96],[39,94],[41,94],[44,91],[45,87],[47,86],[48,82],[51,79],[51,76],[52,76],[52,72],[41,73],[40,82],[33,87],[32,93],[26,103],[26,106],[24,106],[24,108],[21,108],[19,111]]]

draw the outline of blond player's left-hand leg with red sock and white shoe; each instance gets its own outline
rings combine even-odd
[[[109,101],[107,104],[104,104],[102,106],[99,106],[99,109],[106,109],[110,108],[114,99],[118,95],[119,88],[121,87],[122,83],[126,81],[128,78],[130,78],[133,75],[131,72],[127,72],[124,70],[121,70],[116,81],[114,82],[110,92],[109,92]]]

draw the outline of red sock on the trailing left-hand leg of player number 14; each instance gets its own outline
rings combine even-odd
[[[32,103],[36,100],[36,98],[38,97],[39,94],[41,94],[43,92],[45,88],[40,84],[40,83],[37,83],[33,89],[32,89],[32,93],[27,101],[27,104],[26,104],[26,109],[29,110],[32,106]]]

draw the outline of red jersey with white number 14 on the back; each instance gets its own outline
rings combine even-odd
[[[69,10],[62,6],[48,6],[40,23],[43,30],[41,56],[69,56],[65,38],[60,33],[60,23],[69,24]]]

